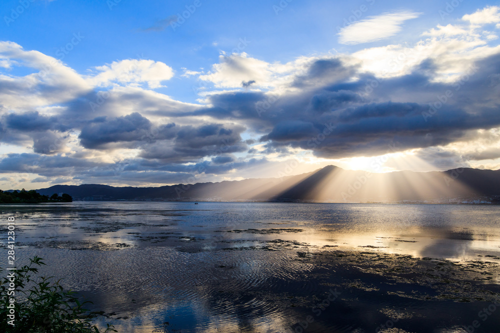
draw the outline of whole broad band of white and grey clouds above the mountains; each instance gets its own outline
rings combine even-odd
[[[496,23],[494,10],[422,31],[414,45],[286,63],[221,55],[209,71],[179,77],[213,83],[200,104],[151,90],[173,76],[162,62],[115,61],[83,75],[0,42],[0,144],[25,152],[4,153],[0,173],[5,182],[16,173],[33,182],[220,181],[298,154],[327,163],[388,149],[437,169],[498,168],[500,46],[477,23]],[[398,14],[395,29],[417,16]]]

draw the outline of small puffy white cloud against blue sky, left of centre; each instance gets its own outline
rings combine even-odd
[[[89,82],[95,86],[131,85],[139,86],[147,83],[149,88],[161,87],[160,82],[169,80],[173,70],[165,63],[154,60],[126,59],[113,61],[111,64],[95,67],[100,71],[89,77]]]

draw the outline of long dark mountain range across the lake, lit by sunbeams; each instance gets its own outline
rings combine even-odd
[[[55,185],[42,195],[67,193],[74,200],[165,201],[316,201],[316,202],[462,202],[497,203],[500,170],[471,168],[443,172],[370,173],[326,166],[281,178],[161,187]]]

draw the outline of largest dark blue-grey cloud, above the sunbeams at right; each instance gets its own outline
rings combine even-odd
[[[211,108],[196,112],[244,119],[263,134],[267,148],[300,147],[327,158],[373,156],[394,143],[400,151],[445,145],[500,125],[500,98],[490,84],[491,73],[500,72],[500,56],[475,66],[471,75],[445,84],[429,76],[431,60],[386,79],[355,73],[338,60],[318,60],[294,80],[302,87],[298,92],[272,102],[262,93],[219,93],[210,97]]]

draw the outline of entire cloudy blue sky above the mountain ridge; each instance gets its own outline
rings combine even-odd
[[[0,188],[500,168],[495,1],[2,0]]]

